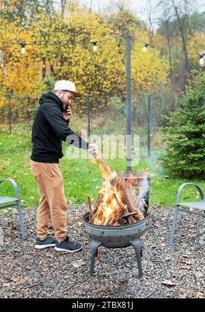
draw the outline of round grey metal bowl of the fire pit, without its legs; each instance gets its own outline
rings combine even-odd
[[[90,224],[89,212],[83,216],[85,231],[90,237],[107,248],[122,248],[131,246],[131,241],[139,239],[149,224],[148,217],[140,222],[119,226],[103,226]]]

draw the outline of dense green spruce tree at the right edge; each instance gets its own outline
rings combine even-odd
[[[205,75],[193,71],[180,107],[167,118],[166,152],[161,157],[172,177],[205,178]]]

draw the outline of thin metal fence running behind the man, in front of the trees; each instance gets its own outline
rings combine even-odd
[[[39,99],[25,96],[1,96],[0,122],[8,123],[8,133],[18,122],[33,123]],[[132,99],[131,133],[139,135],[140,157],[150,157],[152,151],[161,146],[159,129],[164,125],[163,114],[169,114],[160,96],[150,94]],[[83,96],[72,103],[73,118],[70,127],[81,135],[87,131],[87,140],[92,135],[126,135],[126,99],[118,96]]]

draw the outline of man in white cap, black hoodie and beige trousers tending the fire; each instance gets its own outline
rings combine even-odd
[[[68,207],[59,170],[59,158],[63,157],[62,140],[92,154],[97,153],[96,144],[88,144],[68,127],[72,98],[80,96],[72,81],[61,80],[55,83],[54,92],[43,94],[39,101],[40,107],[33,122],[31,154],[31,171],[40,191],[36,248],[55,246],[55,250],[66,252],[82,248],[81,244],[70,241],[67,235]],[[48,235],[50,220],[56,239]]]

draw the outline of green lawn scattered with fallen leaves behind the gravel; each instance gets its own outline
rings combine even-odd
[[[17,129],[17,130],[16,130]],[[29,159],[31,155],[31,131],[29,127],[18,127],[12,135],[8,135],[7,129],[1,127],[0,132],[0,179],[10,178],[18,183],[18,190],[23,207],[38,205],[38,187],[31,169]],[[64,151],[68,148],[64,144]],[[126,170],[124,159],[112,159],[107,161],[111,170]],[[182,179],[165,178],[162,168],[156,159],[152,161],[142,160],[135,170],[149,170],[151,177],[150,205],[173,206],[176,200],[176,192],[183,182],[197,183],[205,190],[204,181],[184,181]],[[96,200],[102,183],[102,176],[97,164],[87,159],[61,159],[61,173],[64,177],[66,197],[72,204],[87,202],[87,194],[90,194],[93,202]],[[0,194],[12,195],[9,183],[0,185]],[[184,190],[183,200],[197,200],[199,196],[195,188],[187,187]]]

